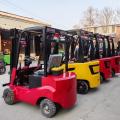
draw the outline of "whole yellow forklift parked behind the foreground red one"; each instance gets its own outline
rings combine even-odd
[[[68,70],[76,73],[77,92],[87,94],[90,88],[98,88],[100,85],[99,61],[84,61],[82,37],[77,32],[74,30],[67,31],[69,35]]]

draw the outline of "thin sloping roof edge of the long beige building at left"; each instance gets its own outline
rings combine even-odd
[[[0,15],[1,16],[11,17],[11,18],[16,18],[16,19],[21,19],[21,20],[24,20],[24,21],[32,22],[32,23],[43,24],[45,26],[51,26],[50,24],[48,24],[46,22],[43,22],[41,20],[36,20],[36,19],[33,19],[33,18],[24,17],[24,16],[12,14],[12,13],[4,12],[4,11],[0,11]]]

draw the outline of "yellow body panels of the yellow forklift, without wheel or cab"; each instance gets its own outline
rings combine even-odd
[[[92,69],[95,72],[95,74],[91,73],[90,66],[93,66]],[[53,68],[52,70],[61,69],[65,69],[65,66],[62,65],[59,68]],[[88,81],[90,88],[96,88],[100,85],[99,61],[90,61],[85,63],[69,63],[68,71],[74,72],[76,74],[77,80]]]

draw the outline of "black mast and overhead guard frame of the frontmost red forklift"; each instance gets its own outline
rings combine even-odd
[[[68,67],[68,37],[65,31],[50,28],[50,27],[30,27],[26,28],[24,30],[18,30],[18,29],[11,29],[11,38],[12,38],[12,49],[11,49],[11,66],[10,70],[12,71],[13,68],[17,69],[18,65],[18,59],[19,59],[19,53],[20,53],[20,47],[22,44],[25,44],[25,57],[30,57],[30,44],[31,44],[31,37],[32,33],[40,34],[42,37],[39,37],[40,40],[35,40],[35,47],[36,44],[39,44],[37,48],[41,50],[40,43],[42,42],[42,51],[43,51],[43,61],[44,61],[44,76],[47,76],[47,67],[48,67],[48,60],[50,56],[51,51],[51,42],[53,41],[54,34],[58,33],[60,35],[63,35],[65,37],[65,65],[66,65],[66,71]],[[37,42],[36,42],[37,41]],[[41,51],[39,52],[39,54]],[[55,53],[54,53],[55,54]],[[26,66],[26,64],[25,64]]]

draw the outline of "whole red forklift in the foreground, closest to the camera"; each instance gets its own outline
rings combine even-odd
[[[10,32],[11,72],[10,82],[3,84],[8,86],[3,92],[5,103],[13,105],[16,102],[25,102],[39,105],[41,113],[48,118],[53,117],[60,107],[73,107],[76,103],[76,75],[68,72],[67,44],[64,58],[62,54],[51,54],[50,51],[54,34],[59,34],[67,41],[66,32],[39,26],[24,30],[11,29]],[[31,47],[35,47],[38,54],[36,61],[31,56]],[[21,53],[25,56],[24,60]],[[62,62],[65,64],[65,71],[54,71],[53,68],[59,67]]]

